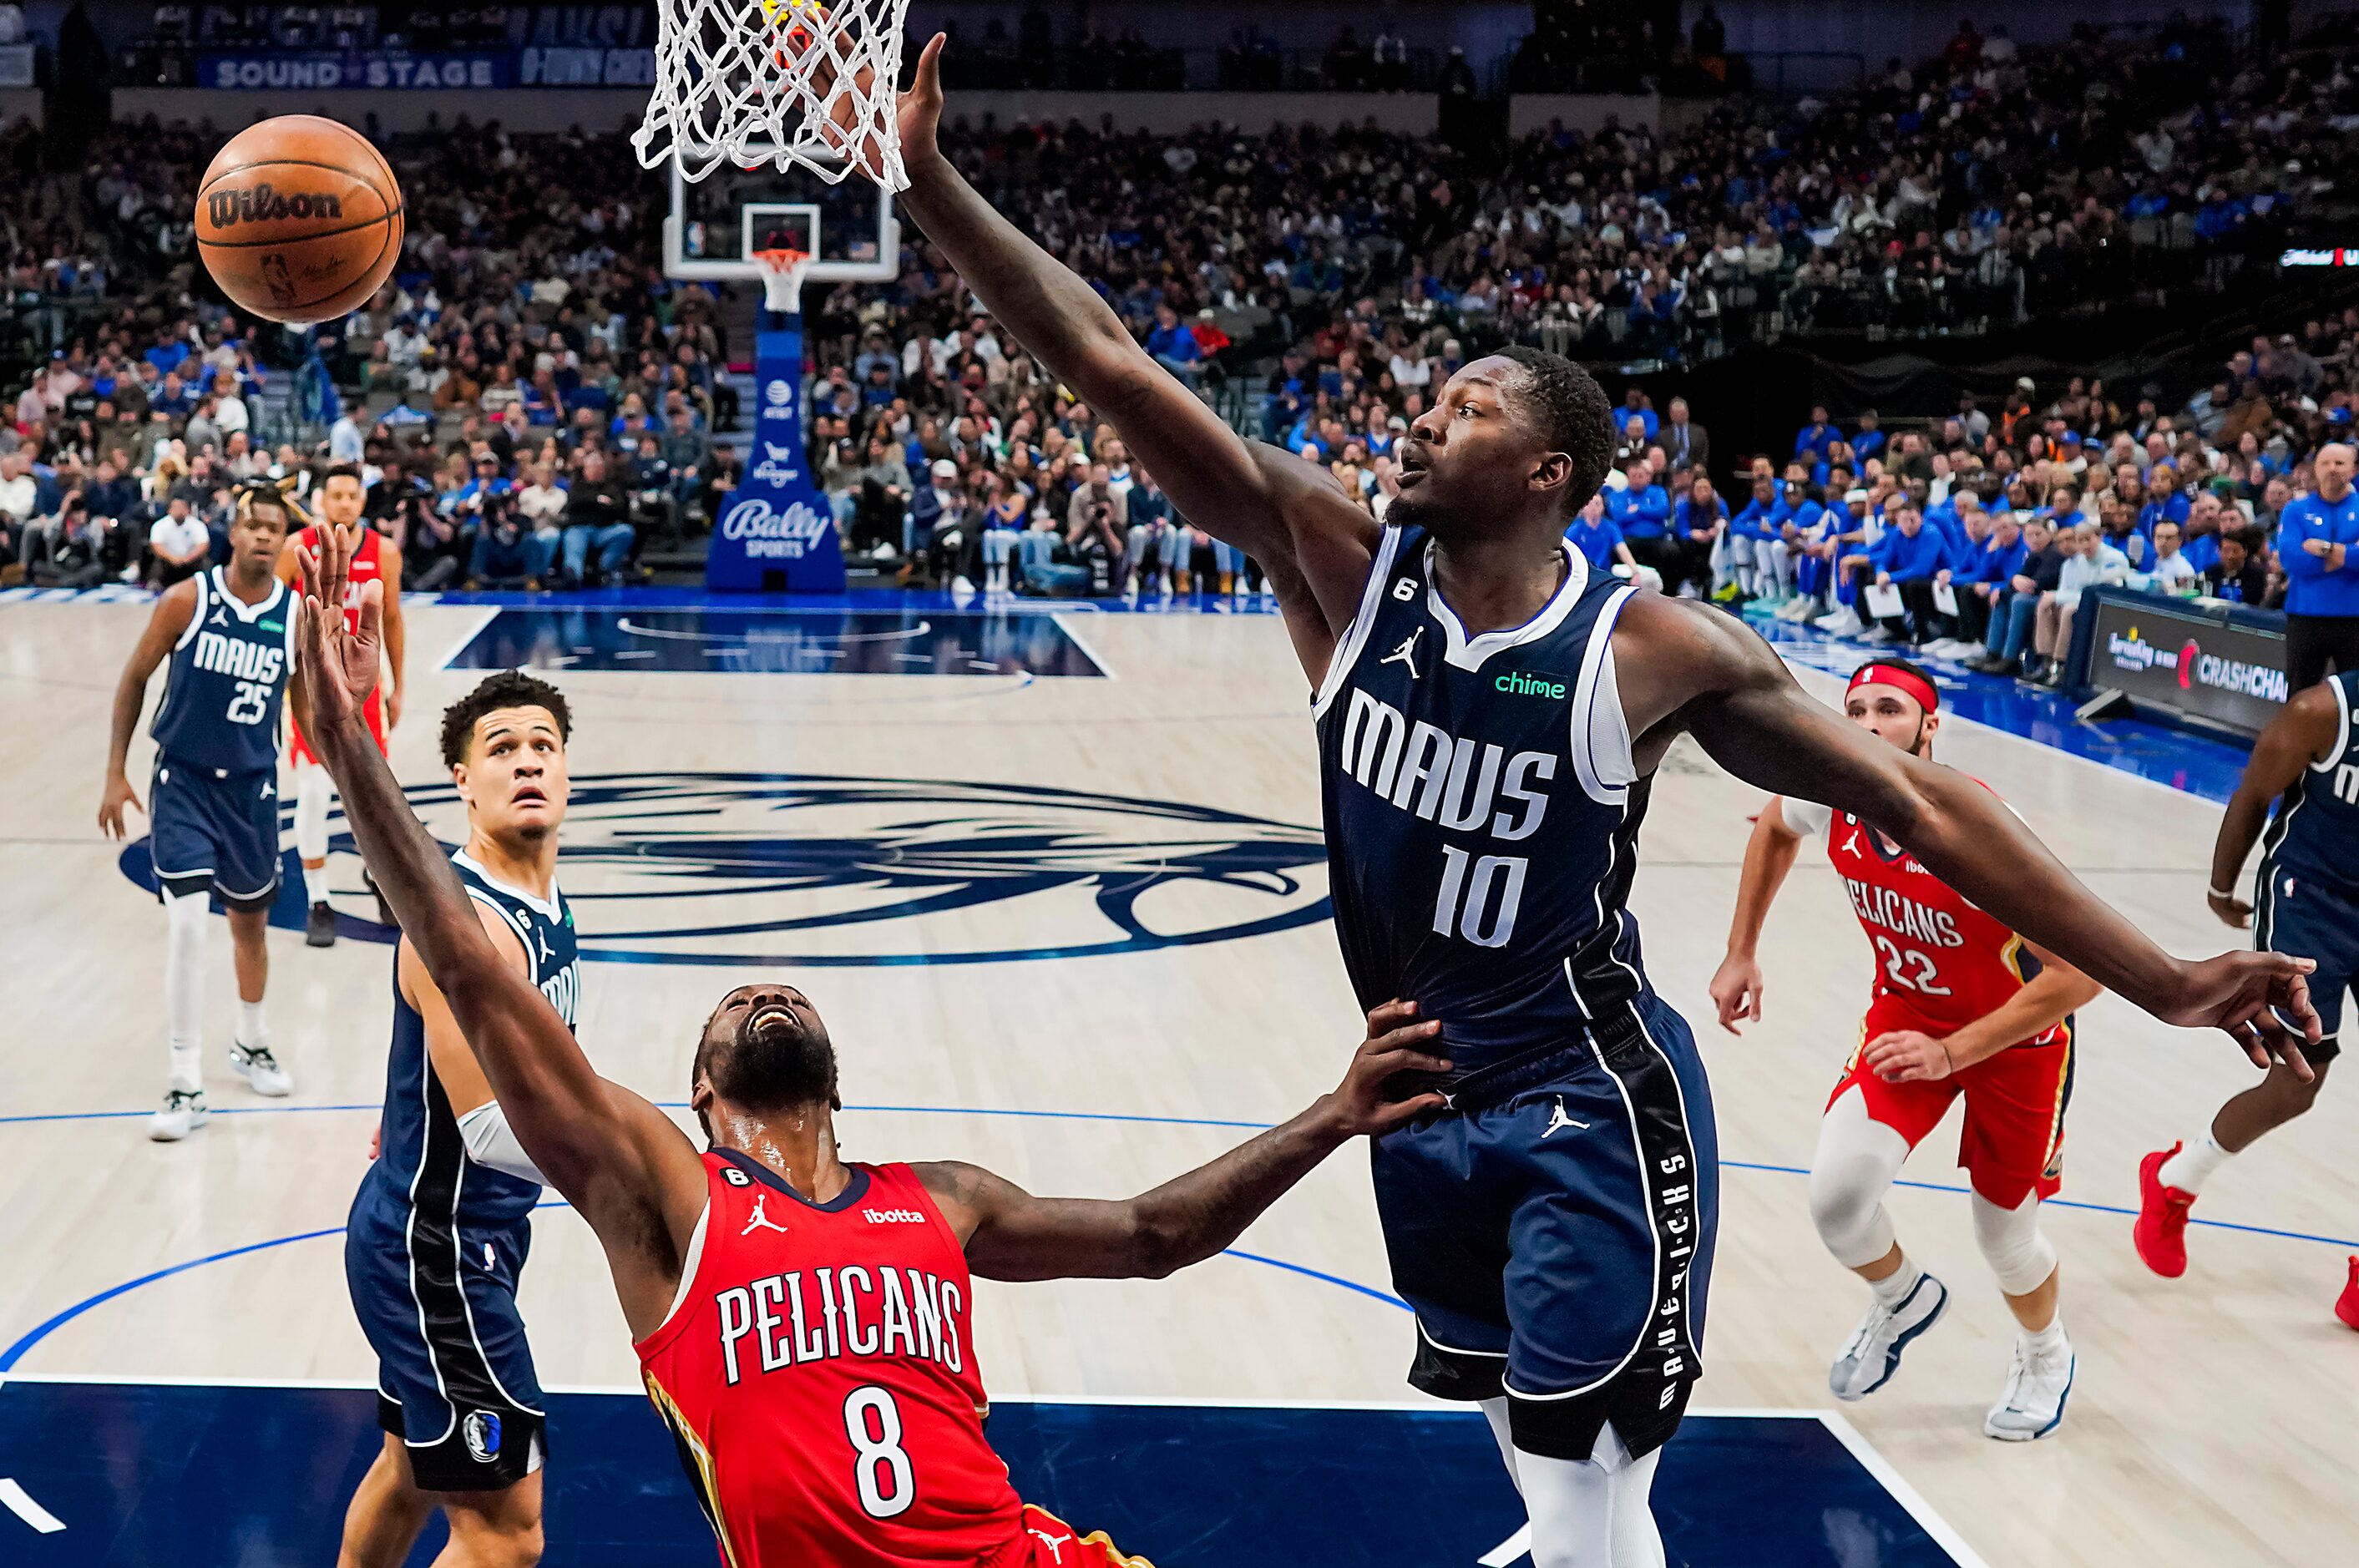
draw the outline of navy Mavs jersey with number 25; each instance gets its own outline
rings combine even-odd
[[[215,566],[196,582],[196,613],[172,644],[163,703],[156,707],[156,750],[215,773],[259,773],[278,766],[278,700],[295,670],[295,611],[285,582],[271,582],[262,604],[229,592]]]

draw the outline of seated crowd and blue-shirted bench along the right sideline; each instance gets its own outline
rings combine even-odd
[[[1687,408],[1658,422],[1632,389],[1616,413],[1621,467],[1569,538],[1665,592],[2048,686],[2064,681],[2074,615],[2097,585],[2284,608],[2347,634],[2354,382],[2359,309],[2255,337],[2168,408],[2156,387],[2085,377],[2024,377],[1996,410],[1963,396],[1897,434],[1873,410],[1838,422],[1814,408],[1790,453],[1732,472],[1732,493]],[[2340,658],[2359,658],[2359,637]]]

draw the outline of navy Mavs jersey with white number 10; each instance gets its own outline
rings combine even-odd
[[[1467,637],[1387,528],[1314,698],[1342,962],[1441,1019],[1456,1073],[1578,1045],[1647,990],[1623,910],[1647,785],[1609,639],[1635,589],[1564,549],[1555,599]]]

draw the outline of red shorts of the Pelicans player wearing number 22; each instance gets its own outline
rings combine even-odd
[[[1859,1049],[1842,1073],[1842,1082],[1826,1096],[1833,1106],[1842,1092],[1859,1085],[1868,1120],[1890,1127],[1908,1139],[1908,1148],[1925,1141],[1949,1103],[1965,1096],[1965,1127],[1958,1129],[1958,1167],[1965,1170],[1974,1191],[2003,1210],[2012,1210],[2024,1193],[2055,1198],[2064,1184],[2064,1106],[2071,1101],[2071,1045],[2074,1021],[2057,1026],[2048,1045],[2010,1045],[1996,1056],[1984,1056],[1970,1068],[1949,1078],[1925,1082],[1885,1082],[1866,1066],[1861,1054],[1868,1040],[1899,1028],[1916,1028],[1927,1035],[1925,1023],[1906,1007],[1878,997],[1859,1026]]]

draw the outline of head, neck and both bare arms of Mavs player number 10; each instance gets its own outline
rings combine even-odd
[[[1380,528],[1326,474],[1246,441],[1158,365],[1097,292],[1000,217],[941,156],[937,35],[901,94],[903,207],[1057,380],[1099,410],[1156,474],[1175,509],[1262,564],[1312,684],[1361,613]],[[1550,365],[1548,361],[1555,361]],[[1420,526],[1432,578],[1470,639],[1524,627],[1562,582],[1564,519],[1604,479],[1611,420],[1571,408],[1595,382],[1529,351],[1472,361],[1401,443],[1401,493],[1387,526]],[[1545,436],[1595,424],[1597,453]],[[1538,427],[1540,441],[1533,441]],[[1569,441],[1564,446],[1583,446]],[[2182,962],[2090,894],[1989,790],[1878,743],[1809,700],[1783,660],[1729,615],[1682,599],[1632,599],[1611,634],[1632,769],[1654,771],[1689,731],[1732,773],[1762,790],[1854,811],[1934,875],[2100,986],[2166,1023],[2215,1026],[2267,1066],[2293,1035],[2267,1004],[2314,1033],[2307,964],[2269,953]]]

